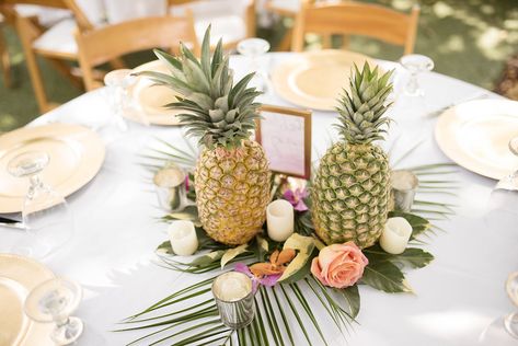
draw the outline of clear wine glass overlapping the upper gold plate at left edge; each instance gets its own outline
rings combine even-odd
[[[11,175],[28,178],[30,186],[22,208],[26,235],[14,245],[13,252],[43,258],[59,250],[73,233],[73,220],[67,201],[46,185],[41,172],[50,158],[45,151],[26,151],[8,163]]]

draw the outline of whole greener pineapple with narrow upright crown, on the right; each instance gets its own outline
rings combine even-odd
[[[382,127],[390,122],[383,114],[392,71],[378,76],[366,62],[352,74],[350,91],[336,108],[342,141],[322,157],[314,177],[312,218],[325,243],[354,241],[364,249],[380,237],[389,208],[389,160],[372,142],[383,139]]]

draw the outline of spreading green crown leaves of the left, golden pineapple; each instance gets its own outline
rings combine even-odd
[[[228,149],[240,147],[242,140],[250,138],[255,119],[260,118],[261,104],[255,97],[261,92],[246,88],[254,73],[233,84],[233,71],[229,68],[229,57],[223,55],[221,39],[210,55],[210,25],[205,32],[199,60],[182,43],[177,57],[158,49],[154,54],[171,74],[153,71],[138,74],[181,94],[177,101],[165,106],[185,111],[177,117],[187,128],[187,135],[198,137],[200,146]]]

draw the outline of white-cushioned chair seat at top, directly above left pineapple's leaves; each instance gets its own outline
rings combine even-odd
[[[255,0],[168,0],[166,3],[168,13],[173,15],[183,15],[185,10],[193,12],[199,43],[207,26],[212,24],[212,48],[220,37],[225,49],[234,49],[241,39],[255,36]]]

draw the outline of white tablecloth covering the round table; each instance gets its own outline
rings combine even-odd
[[[272,69],[290,57],[291,54],[268,54],[262,62]],[[243,57],[232,56],[230,64],[237,77],[246,72],[248,60]],[[380,64],[395,67],[388,61]],[[434,140],[435,119],[424,120],[419,113],[484,92],[434,72],[421,76],[419,82],[426,93],[425,104],[398,101],[391,111],[396,120],[388,140],[391,159],[396,160],[421,142],[402,166],[449,161]],[[486,95],[498,97],[490,92]],[[272,92],[261,101],[293,106]],[[51,122],[88,124],[96,116],[110,116],[102,89],[61,105],[30,126]],[[312,122],[315,159],[337,138],[331,126],[336,122],[336,114],[313,112]],[[111,331],[122,319],[199,279],[154,262],[154,249],[168,238],[166,224],[157,221],[163,211],[158,207],[149,172],[140,164],[139,157],[157,138],[183,146],[182,130],[129,125],[128,131],[103,138],[106,159],[101,171],[67,198],[74,215],[74,238],[66,249],[44,261],[56,275],[70,277],[84,288],[84,299],[76,314],[87,323],[87,333],[79,345],[94,345],[89,338],[89,327],[100,331],[107,345],[123,345],[142,336],[142,331]],[[456,178],[461,185],[457,197],[429,195],[459,207],[450,220],[436,221],[445,232],[433,235],[425,246],[435,261],[423,269],[408,270],[407,280],[415,293],[388,295],[360,286],[359,324],[346,334],[350,345],[482,345],[484,331],[513,311],[504,284],[507,275],[518,269],[518,232],[498,227],[498,220],[485,212],[494,181],[462,168],[458,169]],[[8,229],[0,232],[0,251],[8,252],[19,233]],[[325,332],[329,326],[323,327]],[[332,345],[345,344],[334,328],[327,333]],[[303,336],[296,337],[298,345],[302,345]]]

